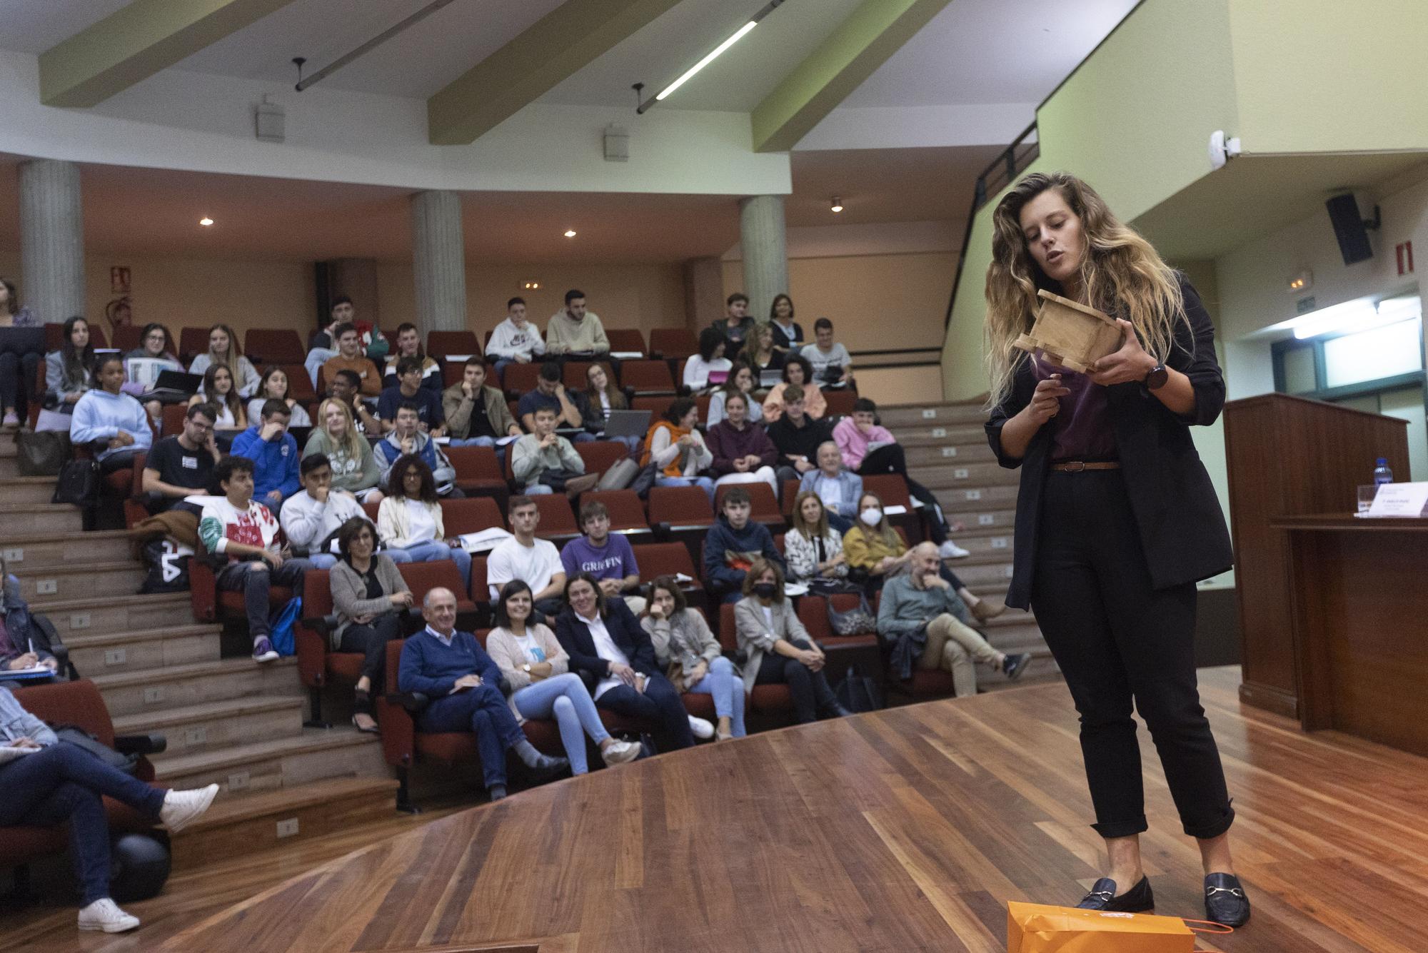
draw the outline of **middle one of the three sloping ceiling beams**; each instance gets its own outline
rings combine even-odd
[[[565,0],[427,100],[427,138],[474,143],[678,3]]]

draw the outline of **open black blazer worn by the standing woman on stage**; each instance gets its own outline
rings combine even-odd
[[[1190,327],[1175,325],[1167,367],[1190,378],[1195,409],[1187,417],[1171,412],[1141,384],[1107,388],[1121,474],[1140,528],[1151,585],[1164,589],[1208,579],[1234,564],[1230,531],[1205,465],[1200,462],[1190,427],[1208,427],[1225,404],[1225,379],[1215,360],[1215,328],[1195,288],[1180,275]],[[1037,389],[1030,361],[1012,378],[1011,394],[991,412],[987,439],[1002,467],[1021,467],[1017,491],[1015,556],[1007,605],[1031,603],[1031,574],[1037,559],[1041,491],[1051,465],[1051,428],[1042,427],[1021,459],[1001,449],[1001,428],[1031,402]],[[1052,418],[1054,419],[1054,418]]]

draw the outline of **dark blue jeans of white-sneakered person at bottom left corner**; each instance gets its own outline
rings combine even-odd
[[[0,827],[70,823],[70,855],[84,906],[109,896],[109,820],[101,795],[159,820],[163,788],[150,788],[60,742],[0,766]]]

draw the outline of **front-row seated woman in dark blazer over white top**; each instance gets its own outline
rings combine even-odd
[[[657,726],[655,748],[661,752],[694,745],[691,720],[703,719],[690,718],[678,689],[660,673],[654,645],[630,606],[607,599],[590,574],[565,583],[555,638],[598,708]],[[713,735],[714,726],[703,723]]]

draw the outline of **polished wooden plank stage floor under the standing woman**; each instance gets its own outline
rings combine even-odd
[[[1241,709],[1238,681],[1201,672],[1255,913],[1200,949],[1422,953],[1428,759]],[[1204,916],[1198,852],[1141,735],[1157,912]],[[298,876],[291,857],[234,862],[133,904],[146,924],[120,937],[76,933],[71,907],[7,910],[0,949],[1005,950],[1007,900],[1074,903],[1095,879],[1090,820],[1075,715],[1040,685],[404,819]]]

